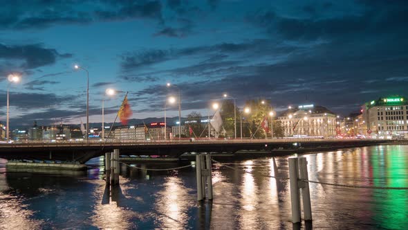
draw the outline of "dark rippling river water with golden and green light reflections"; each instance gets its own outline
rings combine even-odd
[[[305,156],[310,180],[408,187],[408,145]],[[270,157],[228,162],[234,169],[214,164],[214,201],[201,206],[194,168],[146,173],[122,166],[120,188],[109,198],[102,160],[66,175],[7,172],[0,159],[0,229],[293,229],[288,181],[265,176],[275,175]],[[287,157],[275,160],[278,175],[288,177]],[[310,195],[314,229],[408,226],[406,190],[310,184]]]

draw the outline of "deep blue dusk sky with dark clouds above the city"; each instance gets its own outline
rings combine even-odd
[[[282,110],[314,103],[344,116],[405,95],[407,1],[0,0],[0,121],[112,122],[129,91],[132,118],[163,117],[181,89],[183,116],[227,93]],[[20,73],[19,84],[7,76]],[[106,88],[120,90],[114,98]],[[3,95],[3,96],[1,96]],[[167,107],[177,116],[177,107]]]

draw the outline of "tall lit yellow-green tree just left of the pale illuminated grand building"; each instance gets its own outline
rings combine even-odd
[[[260,127],[260,125],[265,116],[267,116],[268,119],[270,120],[269,112],[272,110],[272,107],[270,106],[270,101],[260,99],[247,100],[245,102],[245,107],[250,108],[250,113],[249,114],[243,113],[243,116],[245,117],[245,121],[247,121],[249,124],[251,137],[254,136],[254,138],[259,139],[265,138],[265,130],[263,130],[263,128]]]

